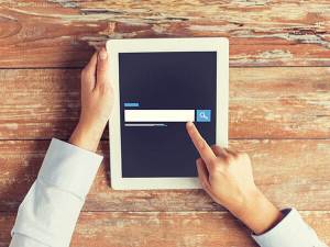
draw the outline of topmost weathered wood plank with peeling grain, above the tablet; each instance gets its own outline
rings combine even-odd
[[[0,67],[80,67],[107,38],[227,36],[231,66],[329,66],[320,1],[3,0]]]

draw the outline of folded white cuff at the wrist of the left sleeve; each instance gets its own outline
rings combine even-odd
[[[100,155],[53,138],[37,178],[85,199],[102,158]]]

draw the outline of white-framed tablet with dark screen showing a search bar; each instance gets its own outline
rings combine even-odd
[[[111,40],[107,50],[112,189],[200,188],[185,125],[195,122],[210,145],[228,145],[228,40]]]

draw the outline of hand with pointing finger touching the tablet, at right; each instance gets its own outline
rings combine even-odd
[[[262,234],[282,220],[282,213],[266,199],[254,183],[248,154],[210,147],[194,123],[187,132],[198,150],[198,177],[205,191],[227,207],[255,234]]]

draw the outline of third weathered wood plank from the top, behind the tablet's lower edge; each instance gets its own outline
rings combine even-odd
[[[33,183],[48,141],[0,142],[0,211],[15,211]],[[256,183],[279,207],[330,210],[330,139],[231,141],[252,156]],[[87,198],[85,211],[221,210],[201,190],[113,191],[106,156]]]

